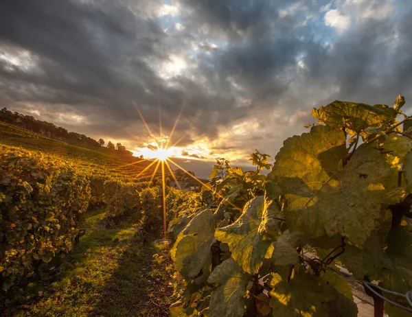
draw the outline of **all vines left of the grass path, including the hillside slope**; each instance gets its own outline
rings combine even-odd
[[[84,234],[88,207],[106,206],[106,218],[133,213],[141,206],[139,191],[149,183],[130,177],[145,162],[130,164],[0,122],[3,127],[1,142],[33,149],[0,144],[0,287],[5,292],[71,250]]]

